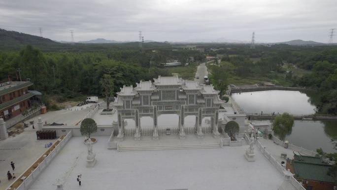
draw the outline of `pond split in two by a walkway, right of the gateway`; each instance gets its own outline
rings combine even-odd
[[[315,113],[315,106],[310,103],[310,98],[299,91],[244,92],[232,94],[232,97],[246,113]],[[337,121],[295,121],[292,134],[286,140],[312,151],[322,148],[325,152],[337,152],[332,138],[337,139]]]

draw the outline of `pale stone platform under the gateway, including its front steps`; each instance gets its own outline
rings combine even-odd
[[[117,140],[115,137],[114,140]],[[118,151],[155,151],[155,150],[180,150],[180,149],[214,149],[221,148],[220,138],[213,138],[211,134],[205,134],[203,139],[197,135],[186,135],[185,139],[179,139],[179,135],[162,135],[159,140],[152,140],[152,136],[141,136],[141,140],[135,141],[134,137],[125,137],[119,141]]]

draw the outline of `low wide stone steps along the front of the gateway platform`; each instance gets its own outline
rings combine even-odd
[[[168,145],[168,146],[119,146],[118,151],[161,151],[161,150],[183,150],[183,149],[216,149],[220,144],[196,144],[196,145]]]

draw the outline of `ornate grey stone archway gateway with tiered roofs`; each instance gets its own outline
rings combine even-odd
[[[180,139],[186,136],[184,118],[195,115],[198,138],[203,138],[202,118],[211,118],[211,130],[214,138],[219,138],[219,107],[223,103],[219,91],[211,85],[199,86],[195,81],[181,80],[177,76],[158,76],[154,82],[140,81],[136,87],[123,86],[112,104],[118,115],[117,139],[124,139],[124,119],[135,120],[135,140],[140,140],[140,118],[149,116],[153,119],[152,138],[159,139],[158,116],[177,114],[178,134]]]

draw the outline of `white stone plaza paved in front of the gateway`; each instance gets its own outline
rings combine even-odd
[[[55,190],[52,184],[60,179],[64,190],[277,190],[284,180],[258,150],[255,162],[247,162],[248,145],[117,152],[106,149],[108,137],[95,138],[95,167],[86,167],[83,137],[72,137],[30,189]]]

